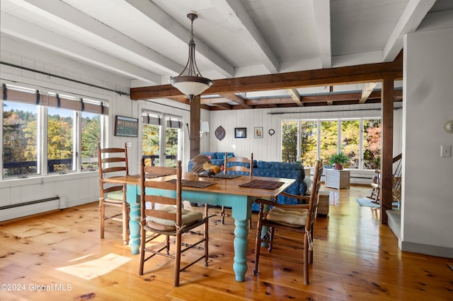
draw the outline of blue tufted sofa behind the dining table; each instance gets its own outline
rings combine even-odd
[[[203,155],[211,156],[211,163],[214,165],[224,164],[225,153],[202,153]],[[208,155],[209,154],[209,155]],[[223,154],[223,155],[222,155]],[[227,153],[227,155],[234,156],[234,153]],[[213,159],[214,158],[214,159]],[[228,166],[243,165],[244,163],[228,163]],[[188,171],[192,170],[193,163],[189,161]],[[229,171],[229,174],[243,175],[243,172]],[[295,179],[295,182],[285,189],[289,194],[302,195],[306,193],[307,182],[305,181],[304,165],[299,163],[284,163],[272,161],[253,161],[253,175],[257,177],[282,177],[286,179]],[[309,175],[307,175],[309,177]],[[278,203],[297,203],[295,199],[288,198],[287,196],[278,196]],[[259,205],[253,203],[253,211],[259,211]]]

